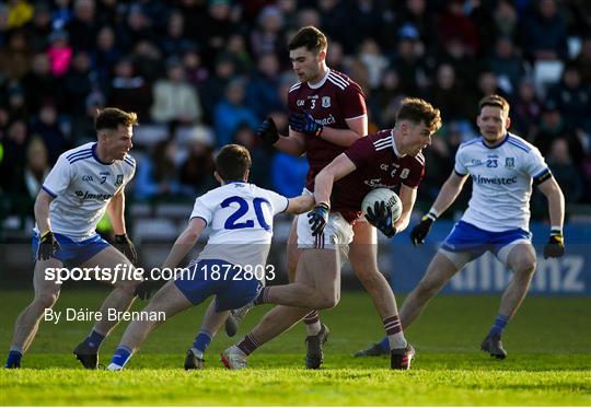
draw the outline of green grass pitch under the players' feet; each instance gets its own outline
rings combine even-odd
[[[96,310],[106,293],[65,288],[56,310]],[[31,295],[0,291],[2,359],[14,319]],[[142,304],[137,301],[136,308]],[[362,292],[345,292],[336,308],[322,314],[331,338],[318,371],[302,369],[304,329],[298,326],[259,349],[242,372],[230,372],[218,361],[218,353],[232,342],[221,334],[206,355],[206,370],[185,372],[184,353],[199,327],[204,306],[157,329],[119,373],[84,371],[71,354],[91,324],[43,323],[25,354],[24,368],[0,370],[0,404],[591,405],[591,299],[526,299],[506,330],[509,357],[505,361],[478,351],[497,305],[498,296],[434,299],[407,330],[417,349],[408,372],[387,370],[390,360],[385,357],[350,357],[382,336],[381,322]],[[250,314],[245,328],[267,308]],[[108,362],[124,328],[125,324],[117,327],[103,345],[102,363]]]

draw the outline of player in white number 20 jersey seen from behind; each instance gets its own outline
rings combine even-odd
[[[230,310],[251,302],[264,284],[267,255],[273,237],[273,218],[280,212],[309,211],[314,199],[287,199],[246,183],[251,168],[248,150],[237,144],[223,147],[216,158],[215,176],[221,187],[198,197],[185,231],[178,236],[163,268],[173,269],[193,248],[201,231],[211,226],[209,241],[183,273],[160,289],[143,312],[164,312],[170,318],[207,298],[216,295],[206,312],[205,326],[187,351],[186,369],[204,364],[201,342],[211,337]],[[134,320],[126,329],[107,370],[121,370],[160,320]],[[207,347],[207,346],[206,346]],[[188,366],[187,366],[188,365]]]

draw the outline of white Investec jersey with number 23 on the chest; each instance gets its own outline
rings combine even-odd
[[[495,148],[473,139],[457,148],[455,172],[470,174],[473,183],[463,221],[490,232],[529,231],[532,179],[549,174],[534,145],[511,133]]]

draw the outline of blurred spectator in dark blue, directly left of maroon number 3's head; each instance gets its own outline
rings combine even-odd
[[[265,119],[270,110],[281,106],[279,88],[279,61],[275,54],[264,54],[258,58],[257,70],[246,86],[245,104]]]

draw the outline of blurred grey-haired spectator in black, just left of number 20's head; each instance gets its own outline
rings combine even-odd
[[[213,177],[213,136],[202,126],[193,128],[188,139],[188,155],[179,166],[179,180],[185,194],[194,198],[218,186]]]

